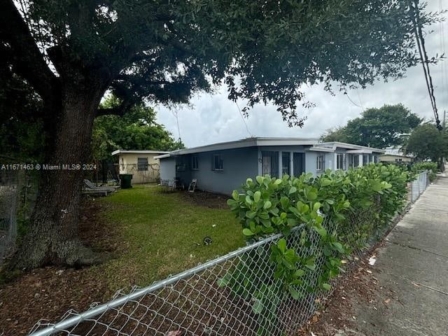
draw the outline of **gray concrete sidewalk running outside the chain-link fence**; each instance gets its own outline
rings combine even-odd
[[[345,335],[448,335],[448,178],[430,185],[375,251],[377,304],[356,304]]]

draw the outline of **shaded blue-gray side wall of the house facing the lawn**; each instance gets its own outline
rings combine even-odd
[[[221,154],[223,171],[211,169],[214,154]],[[191,169],[191,158],[197,155],[199,169]],[[225,151],[211,151],[183,155],[186,158],[186,169],[177,172],[183,183],[197,179],[197,188],[214,193],[230,195],[233,190],[241,189],[247,178],[255,179],[258,174],[258,148],[237,148]],[[161,160],[162,161],[162,160]]]

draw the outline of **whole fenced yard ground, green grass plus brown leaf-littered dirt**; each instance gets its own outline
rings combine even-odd
[[[134,186],[84,203],[81,238],[112,258],[80,269],[34,269],[0,284],[0,335],[27,335],[41,318],[58,321],[69,309],[111,300],[120,288],[129,293],[130,286],[148,286],[244,245],[224,197]],[[206,236],[213,239],[208,246]]]

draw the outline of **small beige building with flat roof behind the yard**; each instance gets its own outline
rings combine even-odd
[[[119,174],[132,174],[132,183],[151,183],[160,179],[159,159],[155,156],[167,154],[164,151],[125,151],[118,149],[112,155],[118,156]]]

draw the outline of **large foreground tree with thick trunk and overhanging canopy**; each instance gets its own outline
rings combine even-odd
[[[94,119],[144,99],[185,103],[224,82],[230,99],[272,102],[301,126],[302,84],[365,87],[418,62],[407,0],[22,0],[22,14],[15,2],[0,0],[1,62],[42,100],[50,164],[87,162]],[[422,5],[420,19],[434,15]],[[121,104],[99,109],[108,90]],[[94,262],[78,239],[82,181],[42,171],[17,267]]]

